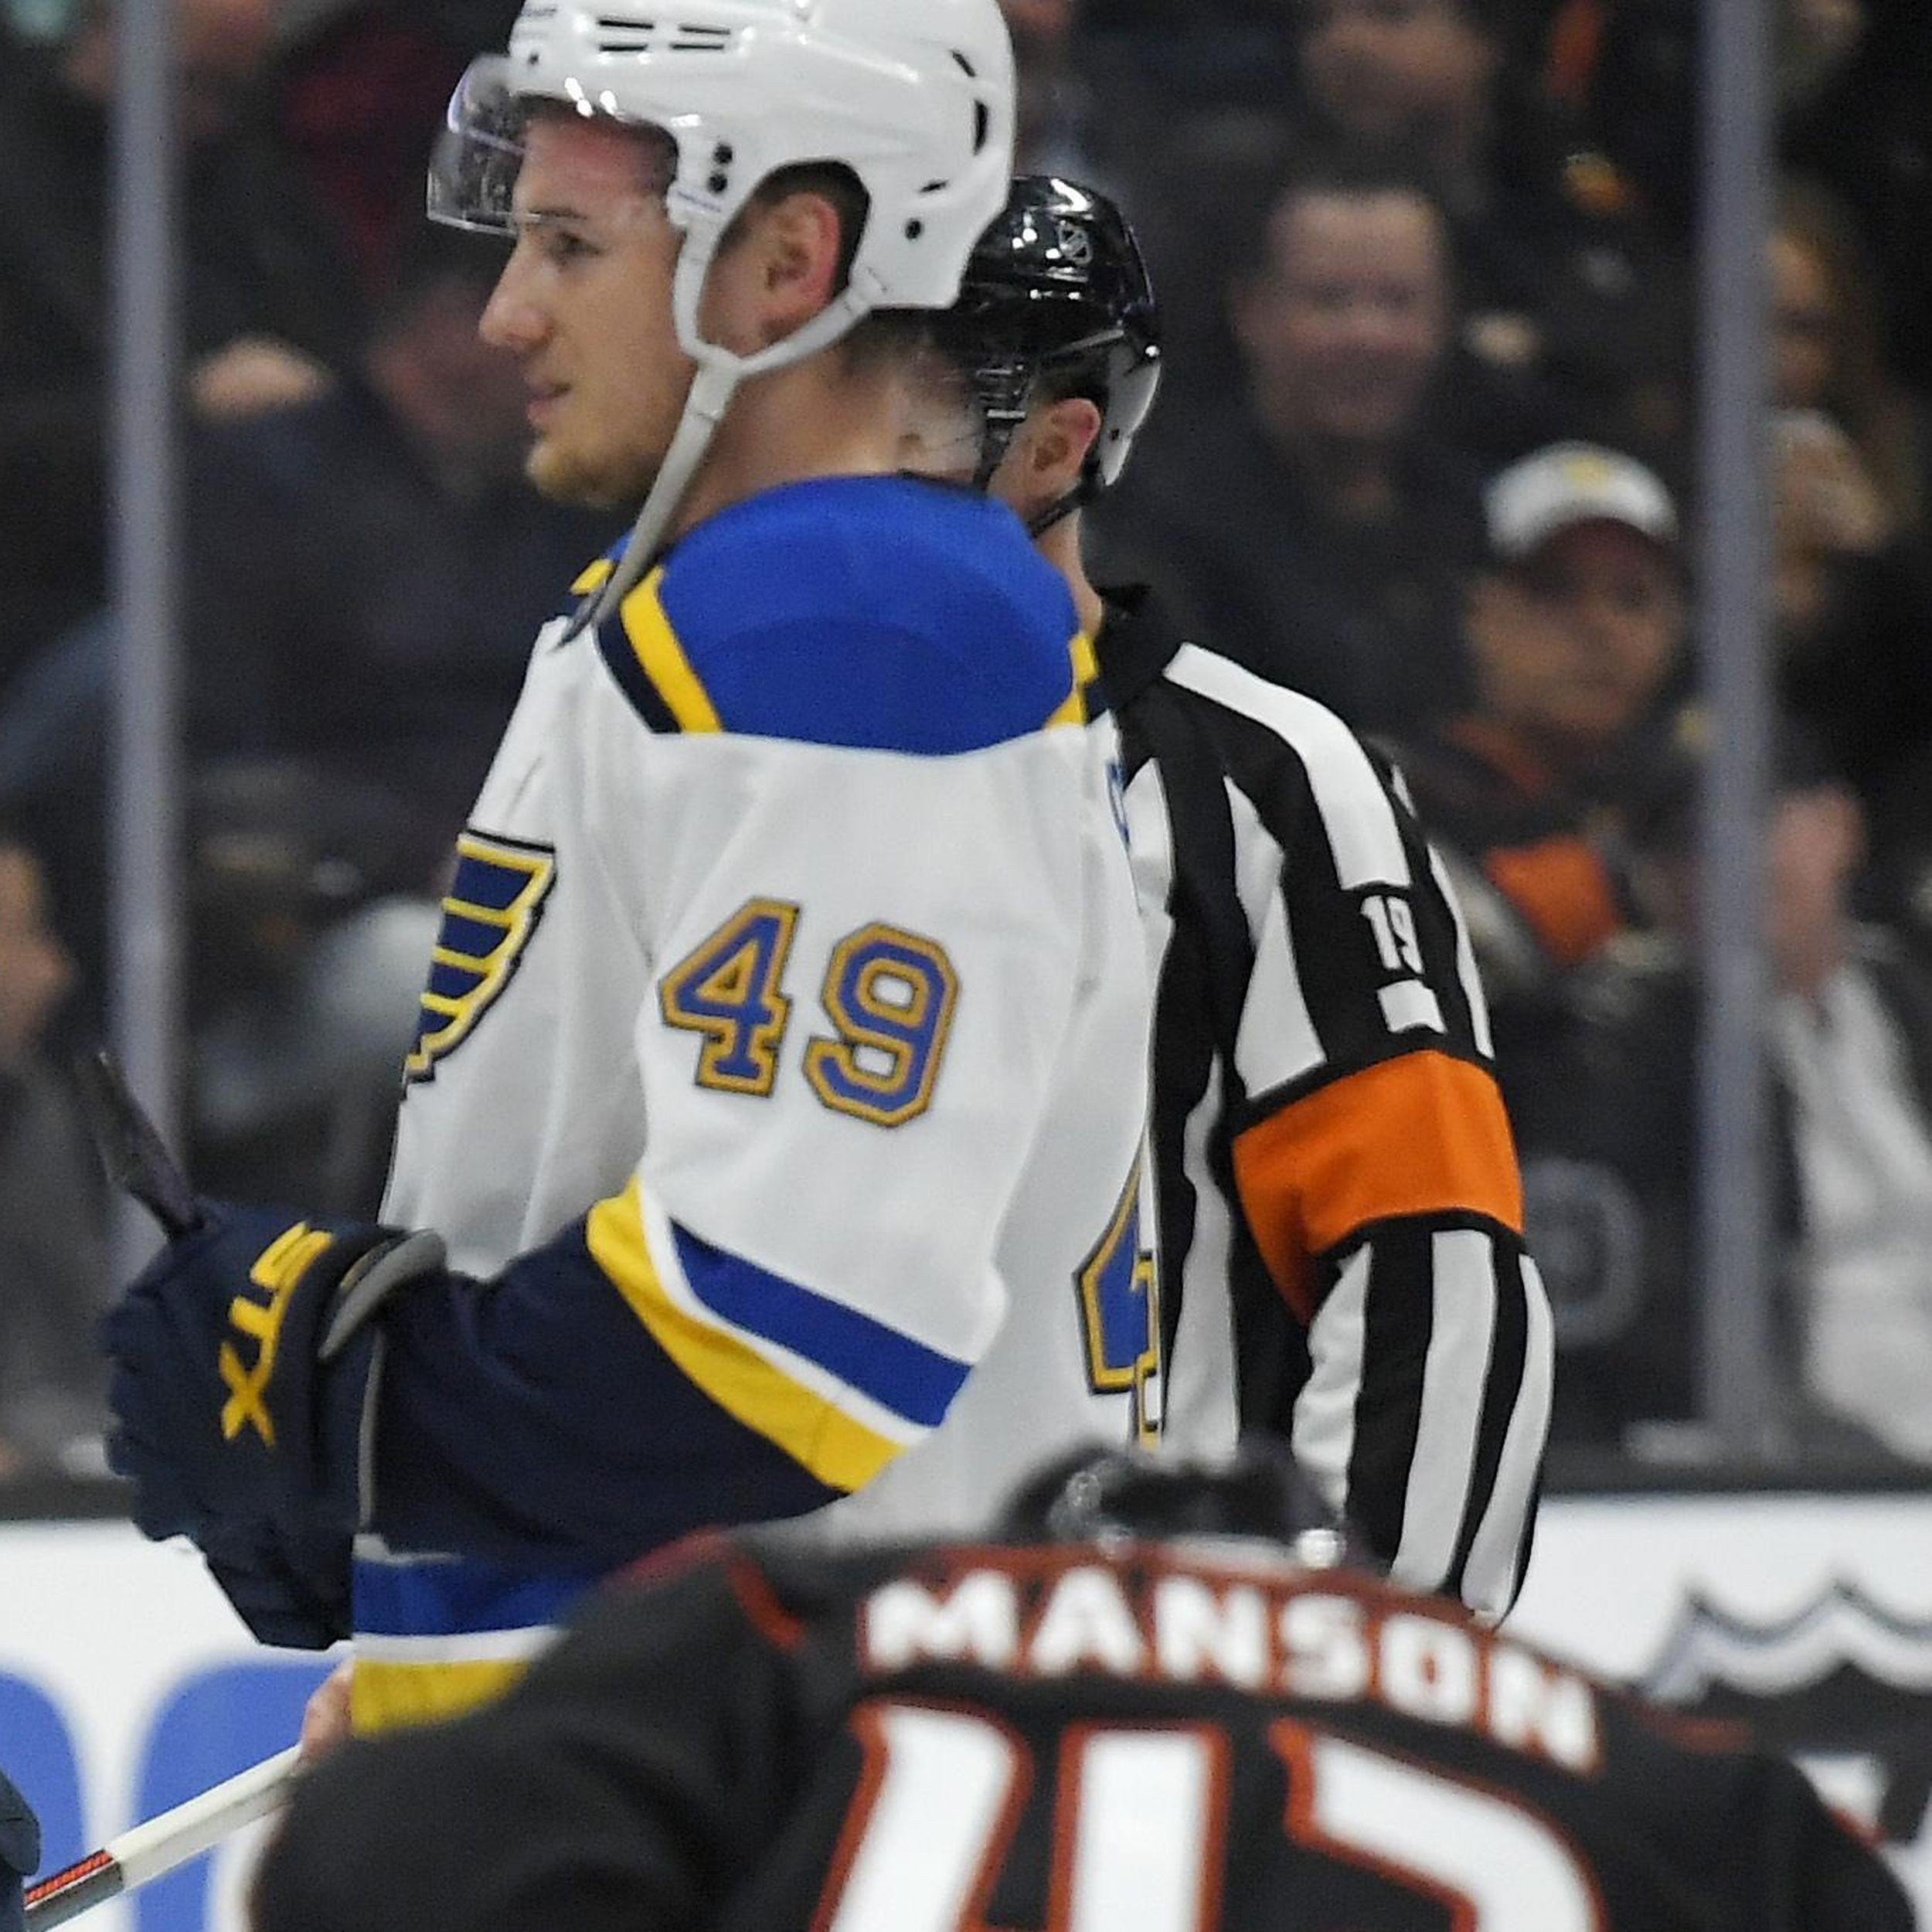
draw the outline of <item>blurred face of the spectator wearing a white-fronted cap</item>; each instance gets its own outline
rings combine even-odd
[[[1492,709],[1544,740],[1615,748],[1663,686],[1683,641],[1677,570],[1625,524],[1577,524],[1472,607]]]

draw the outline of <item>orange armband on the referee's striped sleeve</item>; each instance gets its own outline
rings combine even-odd
[[[1275,1285],[1314,1320],[1308,1264],[1370,1221],[1480,1213],[1522,1233],[1522,1175],[1495,1078],[1405,1053],[1316,1088],[1235,1142],[1235,1184]]]

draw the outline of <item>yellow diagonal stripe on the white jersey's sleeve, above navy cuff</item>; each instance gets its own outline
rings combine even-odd
[[[792,1381],[736,1335],[680,1308],[659,1279],[638,1182],[589,1211],[585,1244],[632,1314],[713,1403],[835,1490],[862,1490],[904,1443]]]

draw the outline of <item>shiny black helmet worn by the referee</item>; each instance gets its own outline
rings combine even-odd
[[[1047,384],[1101,412],[1086,471],[1057,514],[1111,489],[1161,384],[1153,282],[1126,216],[1055,174],[1022,174],[980,236],[939,340],[966,371],[985,419],[985,487]]]

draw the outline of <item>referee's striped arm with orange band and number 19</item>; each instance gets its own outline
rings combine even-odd
[[[1244,1066],[1233,1136],[1244,1219],[1306,1325],[1293,1443],[1399,1582],[1501,1617],[1528,1561],[1553,1335],[1488,1012],[1401,782],[1352,744],[1304,763],[1320,810],[1283,831],[1275,922],[1294,956],[1258,952],[1236,1059],[1262,1051],[1262,1009],[1291,981],[1283,1026],[1318,1057],[1285,1082]]]

